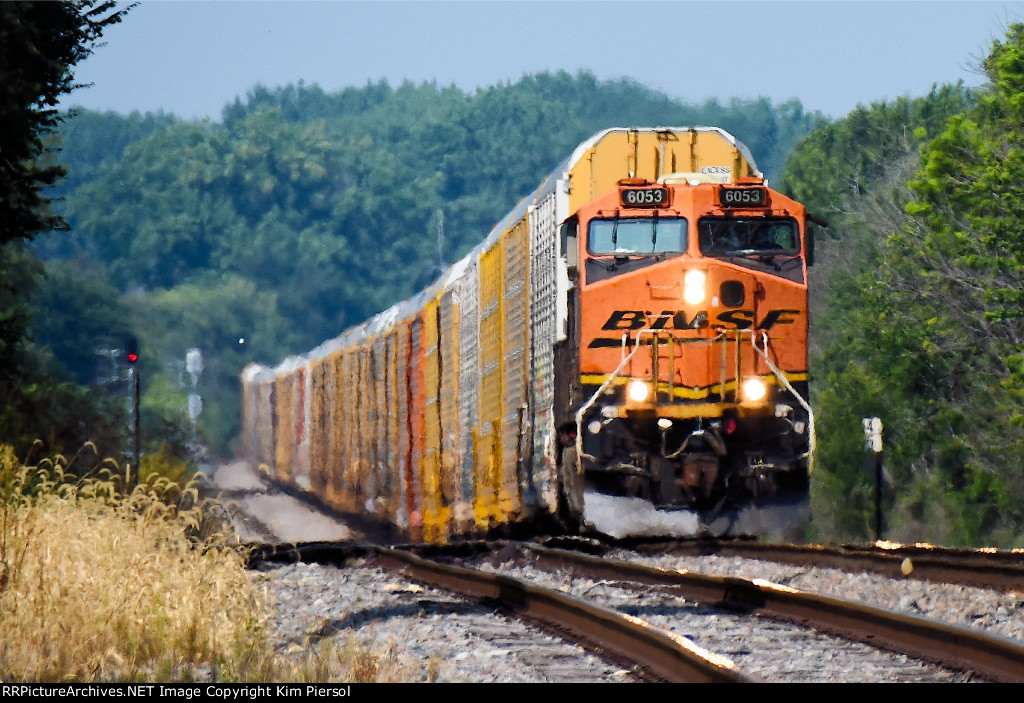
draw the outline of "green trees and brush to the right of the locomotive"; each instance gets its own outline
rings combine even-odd
[[[976,91],[861,107],[782,188],[829,220],[812,319],[819,539],[874,536],[860,419],[885,425],[883,536],[1024,543],[1024,26]]]

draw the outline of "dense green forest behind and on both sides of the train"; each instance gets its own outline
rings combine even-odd
[[[715,125],[829,223],[811,281],[808,536],[874,536],[861,419],[878,416],[884,536],[1019,546],[1024,28],[993,43],[984,70],[980,89],[935,86],[831,122],[795,100],[691,105],[561,72],[474,92],[257,86],[218,121],[61,116],[36,137],[68,165],[59,183],[46,171],[52,212],[33,206],[52,232],[0,248],[0,381],[14,389],[0,440],[123,451],[110,350],[133,335],[146,451],[191,457],[198,437],[228,455],[245,363],[279,362],[408,297],[598,130]],[[189,375],[193,348],[204,364]]]

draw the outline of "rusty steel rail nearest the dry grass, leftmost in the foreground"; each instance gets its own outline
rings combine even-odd
[[[463,596],[498,602],[525,617],[567,630],[591,646],[640,664],[675,683],[760,683],[730,660],[689,640],[633,616],[602,608],[551,588],[417,557],[392,547],[373,547],[378,562],[409,578]]]

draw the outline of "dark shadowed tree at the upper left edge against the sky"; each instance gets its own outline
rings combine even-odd
[[[88,439],[84,422],[100,416],[27,342],[41,267],[26,244],[66,227],[45,192],[63,173],[52,151],[55,105],[75,87],[74,67],[126,11],[94,0],[0,3],[0,441],[23,452],[36,439],[44,450],[75,450]]]

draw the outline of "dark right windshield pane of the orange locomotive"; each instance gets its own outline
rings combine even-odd
[[[697,223],[700,251],[710,256],[797,254],[800,237],[790,218],[706,217]]]

